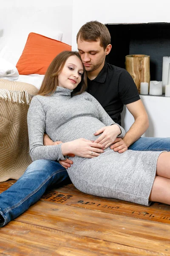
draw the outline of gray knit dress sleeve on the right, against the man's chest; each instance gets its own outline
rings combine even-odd
[[[100,105],[100,103],[91,95],[88,93],[88,99],[94,103],[94,105],[96,106],[98,113],[99,113],[99,120],[104,123],[106,126],[108,125],[114,125],[116,124],[111,117],[108,115],[108,113],[104,110],[104,108],[102,107],[102,105]],[[116,124],[118,125],[118,124]],[[121,134],[118,136],[120,138],[125,137],[125,130],[122,126],[118,125],[119,128],[121,129]]]

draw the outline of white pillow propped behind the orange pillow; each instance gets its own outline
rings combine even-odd
[[[44,34],[37,31],[33,31],[33,32],[58,40],[58,41],[62,41],[63,33],[61,31],[55,32],[55,35],[54,35],[54,32],[51,32],[51,35],[50,35],[50,32],[44,33]],[[27,38],[28,38],[28,35],[20,35],[15,37],[14,36],[0,37],[0,58],[4,58],[6,61],[9,61],[11,64],[15,66],[23,52]]]

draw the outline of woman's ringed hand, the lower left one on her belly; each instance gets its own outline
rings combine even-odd
[[[94,143],[91,140],[85,140],[83,138],[63,143],[61,146],[62,154],[75,154],[79,157],[93,158],[98,157],[103,153],[103,145]]]

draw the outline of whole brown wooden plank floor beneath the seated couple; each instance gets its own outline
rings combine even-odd
[[[14,180],[0,183],[0,192]],[[170,206],[99,198],[72,184],[0,228],[0,256],[170,255]]]

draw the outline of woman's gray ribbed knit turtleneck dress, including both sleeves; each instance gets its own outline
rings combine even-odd
[[[63,143],[85,138],[96,140],[94,132],[113,124],[99,102],[84,92],[57,87],[51,96],[34,96],[28,110],[28,135],[32,160],[64,160],[61,145],[44,146],[46,132],[53,141]],[[125,130],[120,126],[122,134]],[[122,154],[110,147],[94,158],[70,157],[74,161],[68,175],[80,191],[149,205],[149,196],[161,152],[127,150]]]

